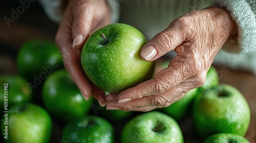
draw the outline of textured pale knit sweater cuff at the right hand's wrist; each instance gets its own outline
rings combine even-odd
[[[217,4],[230,12],[238,25],[238,37],[231,37],[222,49],[229,53],[256,51],[256,16],[247,0],[217,0]]]

